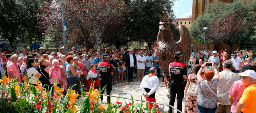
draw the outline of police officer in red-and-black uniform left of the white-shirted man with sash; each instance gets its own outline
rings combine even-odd
[[[111,64],[108,63],[108,59],[109,56],[107,54],[103,55],[103,62],[101,62],[98,65],[98,70],[100,72],[100,77],[101,77],[101,89],[106,86],[106,90],[107,90],[107,95],[110,95],[111,91],[112,91],[112,83],[111,83],[111,79],[113,76],[113,68],[111,66]],[[104,93],[104,90],[101,92],[101,94]],[[101,101],[103,100],[103,96],[101,96]],[[110,102],[110,97],[108,97],[107,103]]]

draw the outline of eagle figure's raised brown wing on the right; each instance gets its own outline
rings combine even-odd
[[[190,56],[191,56],[191,37],[189,31],[185,25],[179,26],[180,30],[180,40],[177,42],[179,51],[181,51],[184,56],[181,59],[181,62],[187,65]]]

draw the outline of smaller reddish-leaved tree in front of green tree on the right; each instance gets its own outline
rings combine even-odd
[[[236,13],[229,14],[225,19],[217,19],[212,21],[207,33],[208,42],[218,42],[222,40],[230,46],[233,51],[234,45],[247,32],[246,22],[238,17]]]

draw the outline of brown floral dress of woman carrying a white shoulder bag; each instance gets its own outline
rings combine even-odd
[[[204,79],[204,76],[202,76],[202,78]],[[192,83],[197,83],[197,75],[192,73],[189,74],[188,78],[187,78],[187,82],[191,82]],[[197,97],[196,96],[190,96],[190,95],[186,95],[185,98],[185,113],[198,113],[198,109],[197,109]]]

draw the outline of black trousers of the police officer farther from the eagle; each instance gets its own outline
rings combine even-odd
[[[106,90],[107,90],[107,95],[110,95],[110,93],[111,93],[111,91],[112,91],[112,82],[111,82],[111,80],[106,80],[106,79],[102,79],[101,78],[101,83],[100,83],[100,86],[101,86],[101,89],[103,88],[103,87],[105,87],[105,85],[107,85],[106,86]],[[103,94],[104,93],[104,90],[101,92],[101,94]],[[109,102],[110,102],[110,97],[107,97],[107,103],[109,104]],[[103,96],[101,96],[101,101],[103,100]]]

